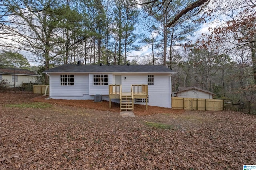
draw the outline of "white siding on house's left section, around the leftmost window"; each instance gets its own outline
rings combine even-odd
[[[74,86],[61,86],[60,74],[50,74],[50,97],[89,94],[88,74],[74,74]]]

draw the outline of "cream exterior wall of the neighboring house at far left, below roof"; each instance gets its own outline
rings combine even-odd
[[[2,74],[2,79],[7,80],[8,87],[14,87],[14,82],[12,82],[12,76],[10,74]],[[37,76],[27,76],[27,75],[16,75],[17,82],[15,83],[16,87],[21,87],[22,83],[37,83]]]

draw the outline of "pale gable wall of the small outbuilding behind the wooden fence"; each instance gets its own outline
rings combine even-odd
[[[177,97],[180,98],[202,98],[202,99],[212,99],[212,94],[201,92],[198,90],[188,90],[185,92],[179,92]]]

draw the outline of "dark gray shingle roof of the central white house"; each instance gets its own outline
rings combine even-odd
[[[50,72],[152,72],[152,73],[175,73],[175,71],[166,68],[165,66],[144,66],[144,65],[62,65],[50,70],[44,71],[44,73]]]

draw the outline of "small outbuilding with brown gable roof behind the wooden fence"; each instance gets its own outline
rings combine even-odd
[[[203,90],[198,87],[178,87],[178,92],[175,92],[176,97],[180,98],[202,98],[202,99],[212,99],[215,95],[214,93]]]

